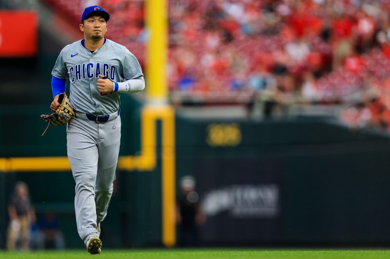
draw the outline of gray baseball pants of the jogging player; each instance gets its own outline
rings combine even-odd
[[[67,125],[67,150],[75,187],[78,235],[96,236],[113,193],[120,145],[120,116],[104,123],[73,117]]]

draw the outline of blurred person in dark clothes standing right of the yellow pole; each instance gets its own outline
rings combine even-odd
[[[195,179],[192,176],[183,176],[180,181],[181,194],[177,201],[176,221],[179,224],[180,246],[198,245],[198,226],[204,224],[205,216],[202,212],[199,195],[195,191]]]

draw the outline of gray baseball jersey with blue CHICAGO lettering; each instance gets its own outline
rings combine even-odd
[[[137,58],[126,47],[109,39],[93,53],[81,40],[65,46],[52,71],[55,77],[69,79],[69,101],[78,112],[110,114],[119,108],[120,93],[100,93],[99,74],[115,82],[143,75]]]

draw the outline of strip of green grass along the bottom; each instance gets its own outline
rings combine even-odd
[[[390,250],[305,250],[305,249],[135,249],[103,250],[100,255],[89,255],[85,250],[45,252],[0,252],[0,258],[59,259],[390,259]]]

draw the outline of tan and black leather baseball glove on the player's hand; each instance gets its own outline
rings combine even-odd
[[[43,136],[46,133],[47,128],[50,124],[59,126],[68,123],[70,119],[76,115],[73,110],[66,93],[59,94],[58,97],[59,107],[52,114],[42,114],[40,117],[47,122],[47,127],[45,131],[42,133]]]

